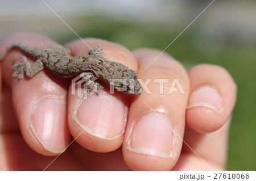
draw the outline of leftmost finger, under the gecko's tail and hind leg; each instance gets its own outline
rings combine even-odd
[[[41,48],[57,45],[47,37],[31,34],[15,34],[1,45],[1,52],[15,42],[23,42]],[[67,88],[48,70],[39,71],[34,77],[13,78],[11,66],[26,56],[33,64],[34,58],[18,49],[11,50],[3,58],[2,73],[11,87],[13,105],[24,140],[35,151],[44,155],[56,155],[68,145],[70,134],[67,125]],[[7,120],[6,120],[7,121]]]

